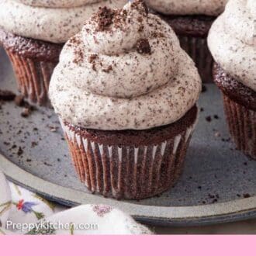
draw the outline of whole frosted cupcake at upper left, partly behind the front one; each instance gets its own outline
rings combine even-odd
[[[120,8],[126,0],[1,0],[0,44],[12,62],[19,91],[48,105],[50,76],[63,44],[100,6]]]

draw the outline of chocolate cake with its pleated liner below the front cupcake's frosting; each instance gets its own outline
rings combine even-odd
[[[144,199],[174,185],[197,120],[194,106],[177,122],[150,130],[104,131],[61,124],[75,170],[88,190]]]

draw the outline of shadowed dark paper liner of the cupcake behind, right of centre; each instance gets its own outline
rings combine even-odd
[[[202,82],[213,82],[213,57],[207,46],[207,39],[195,36],[178,35],[183,50],[195,62],[199,70]]]

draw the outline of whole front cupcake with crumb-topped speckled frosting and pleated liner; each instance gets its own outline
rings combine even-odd
[[[144,1],[100,9],[68,40],[50,81],[78,176],[92,192],[143,199],[182,171],[201,80]]]

